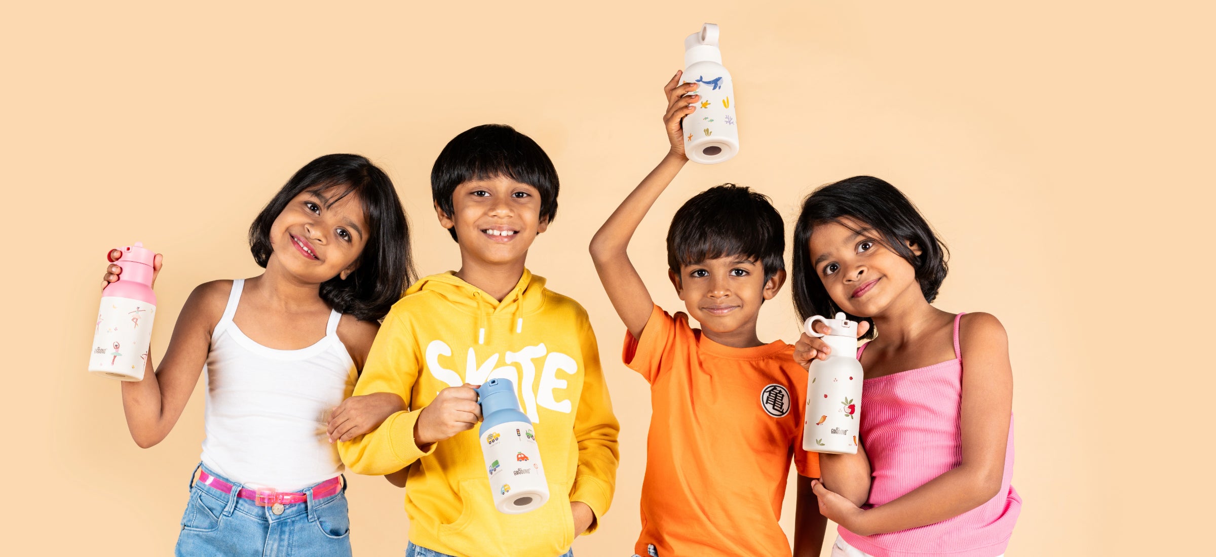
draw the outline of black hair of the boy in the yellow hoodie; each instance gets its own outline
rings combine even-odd
[[[540,191],[540,218],[557,216],[557,169],[531,137],[503,124],[483,124],[452,137],[430,169],[430,197],[452,216],[452,192],[471,180],[510,178]],[[447,229],[456,238],[456,227]]]

